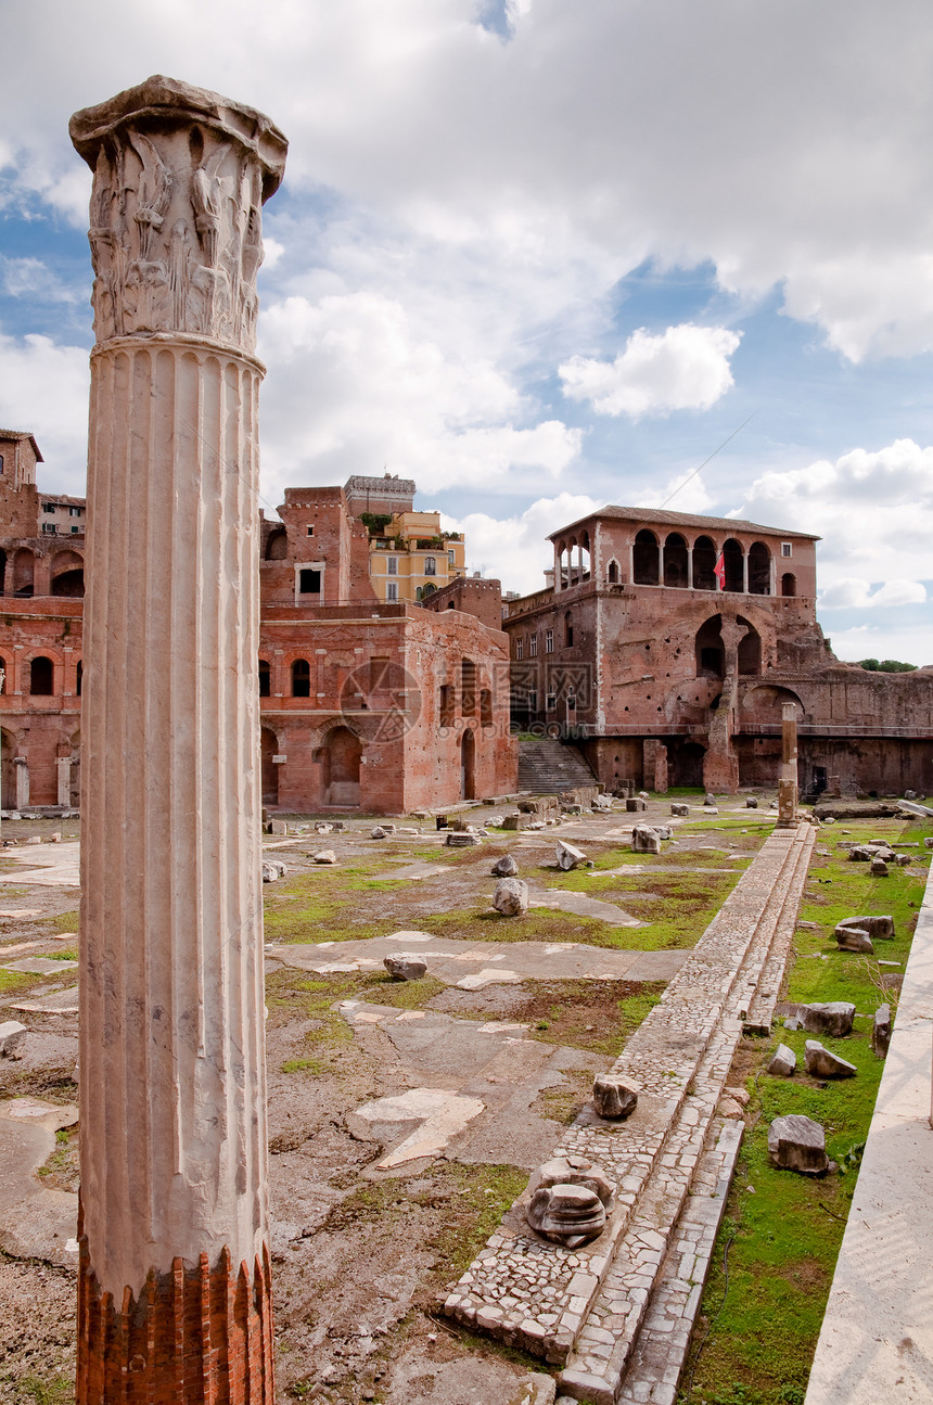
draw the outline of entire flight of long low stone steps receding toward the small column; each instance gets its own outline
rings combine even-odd
[[[615,1182],[603,1235],[544,1243],[520,1200],[445,1301],[561,1366],[565,1399],[676,1399],[743,1127],[717,1104],[743,1027],[770,1024],[812,844],[809,825],[766,840],[615,1062],[642,1086],[635,1114],[614,1125],[587,1107],[556,1149]]]

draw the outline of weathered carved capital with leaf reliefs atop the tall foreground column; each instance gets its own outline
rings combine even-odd
[[[188,333],[253,351],[261,208],[288,145],[278,128],[156,76],[76,112],[69,132],[94,171],[97,341]]]

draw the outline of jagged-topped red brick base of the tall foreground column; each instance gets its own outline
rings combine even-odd
[[[274,1405],[268,1248],[235,1269],[229,1249],[211,1267],[176,1259],[149,1272],[117,1305],[90,1266],[80,1235],[77,1280],[77,1405]]]

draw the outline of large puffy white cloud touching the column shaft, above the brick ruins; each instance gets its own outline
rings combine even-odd
[[[333,482],[384,466],[423,490],[514,492],[575,461],[579,430],[538,419],[489,360],[457,355],[416,323],[370,291],[291,296],[264,312],[267,495],[302,476]]]

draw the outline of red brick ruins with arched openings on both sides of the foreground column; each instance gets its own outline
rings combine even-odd
[[[0,431],[7,809],[79,799],[84,500],[41,493],[39,462],[31,434]],[[351,511],[367,510],[370,482],[382,483],[287,489],[281,521],[260,524],[263,802],[403,813],[514,791],[497,583],[461,582],[455,611],[378,599],[371,532]],[[410,510],[403,488],[393,513]]]

